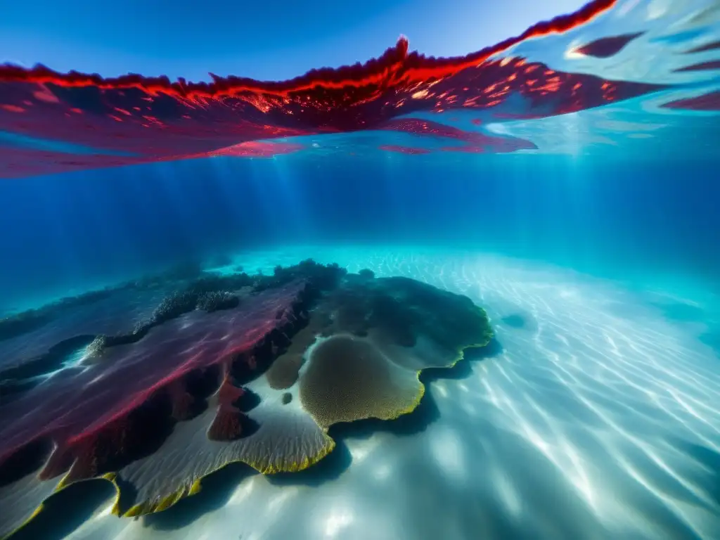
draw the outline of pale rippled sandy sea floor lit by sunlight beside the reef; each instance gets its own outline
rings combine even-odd
[[[438,249],[293,246],[238,254],[228,269],[308,257],[466,294],[496,341],[424,374],[415,413],[333,426],[337,449],[305,472],[232,465],[153,516],[119,519],[103,503],[69,538],[720,538],[708,306],[655,285]]]

